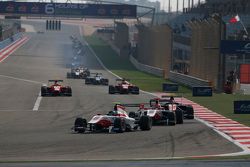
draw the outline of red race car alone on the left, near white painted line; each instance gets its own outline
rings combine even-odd
[[[41,96],[72,96],[71,87],[59,84],[63,80],[49,80],[48,82],[49,86],[41,87]]]

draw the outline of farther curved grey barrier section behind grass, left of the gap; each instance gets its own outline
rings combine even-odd
[[[150,74],[154,74],[160,77],[164,76],[164,70],[157,68],[157,67],[152,67],[146,64],[142,64],[140,62],[138,62],[133,56],[129,56],[129,60],[130,62],[140,71],[144,71]]]

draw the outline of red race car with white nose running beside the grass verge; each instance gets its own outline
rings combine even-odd
[[[116,79],[116,85],[109,85],[109,94],[139,94],[139,87],[130,84],[128,79]]]

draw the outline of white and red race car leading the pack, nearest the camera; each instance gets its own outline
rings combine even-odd
[[[150,130],[152,120],[147,115],[142,115],[138,120],[128,116],[125,107],[116,104],[114,110],[106,115],[97,114],[89,122],[85,118],[76,118],[72,130],[77,133],[84,132],[116,132]]]

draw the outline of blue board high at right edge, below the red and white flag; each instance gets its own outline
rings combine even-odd
[[[222,40],[220,52],[222,54],[250,53],[250,41]]]

